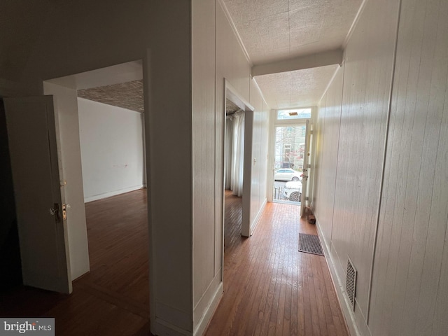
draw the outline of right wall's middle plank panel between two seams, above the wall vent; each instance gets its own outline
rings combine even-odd
[[[364,319],[384,160],[398,2],[368,1],[344,56],[332,247],[337,253],[341,274],[346,271],[347,258],[351,258],[358,270],[356,314]]]

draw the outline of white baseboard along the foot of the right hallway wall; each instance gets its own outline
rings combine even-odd
[[[330,269],[331,280],[336,290],[337,300],[339,301],[339,305],[342,309],[342,314],[344,314],[345,323],[347,325],[347,328],[349,328],[349,333],[351,336],[362,336],[358,330],[358,325],[356,325],[356,319],[353,314],[353,310],[351,309],[351,306],[349,305],[349,302],[346,300],[346,297],[344,295],[344,284],[337,275],[335,264],[333,263],[330,251],[328,249],[327,243],[331,244],[331,241],[325,241],[325,239],[323,239],[323,232],[321,230],[321,225],[318,221],[317,216],[316,228],[318,230],[319,237],[321,237],[320,240],[323,243],[321,245],[325,254],[325,260],[327,261],[328,269]]]

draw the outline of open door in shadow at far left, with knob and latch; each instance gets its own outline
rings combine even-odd
[[[3,102],[23,283],[71,293],[52,96],[5,98]]]

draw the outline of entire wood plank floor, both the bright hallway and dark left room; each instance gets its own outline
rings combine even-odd
[[[224,296],[207,329],[218,335],[348,335],[325,258],[298,252],[316,234],[299,208],[267,204],[250,239],[241,198],[226,193]],[[0,316],[56,318],[56,335],[151,335],[146,190],[86,204],[91,272],[71,295],[20,287]]]

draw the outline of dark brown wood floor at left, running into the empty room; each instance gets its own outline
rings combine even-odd
[[[21,286],[0,316],[55,317],[56,335],[151,335],[146,190],[85,205],[90,273],[61,295]]]

